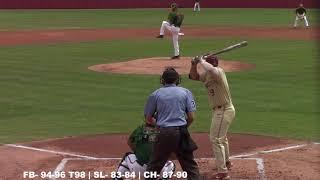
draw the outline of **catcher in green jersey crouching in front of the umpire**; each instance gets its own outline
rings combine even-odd
[[[133,152],[127,152],[122,158],[116,174],[119,178],[115,180],[122,180],[126,172],[134,172],[136,176],[140,172],[143,177],[157,134],[158,130],[150,124],[140,125],[131,133],[128,145]],[[162,172],[173,173],[174,171],[175,164],[172,161],[167,161],[162,168]]]

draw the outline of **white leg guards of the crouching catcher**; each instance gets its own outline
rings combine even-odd
[[[141,166],[137,162],[137,157],[133,153],[127,153],[125,157],[123,157],[122,161],[119,164],[117,172],[120,172],[122,175],[124,175],[126,172],[129,172],[130,174],[132,172],[135,173],[136,176],[140,173],[141,177],[143,177],[143,173],[146,171],[147,165],[144,164]],[[175,164],[172,161],[167,161],[166,164],[163,166],[161,173],[167,172],[173,173],[175,171]]]

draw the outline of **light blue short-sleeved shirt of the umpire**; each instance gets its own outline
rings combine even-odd
[[[166,84],[154,91],[144,108],[145,116],[156,113],[157,126],[184,126],[187,124],[186,113],[196,111],[192,93],[175,84]]]

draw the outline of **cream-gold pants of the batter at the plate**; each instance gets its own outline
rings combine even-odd
[[[233,105],[217,107],[213,110],[210,141],[216,158],[218,173],[228,172],[226,161],[229,160],[227,132],[235,117]]]

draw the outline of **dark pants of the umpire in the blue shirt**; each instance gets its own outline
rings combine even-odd
[[[153,146],[153,153],[151,155],[150,162],[148,163],[147,171],[156,171],[160,174],[161,169],[169,159],[169,156],[174,152],[182,169],[188,173],[188,179],[198,180],[199,168],[198,164],[194,161],[193,152],[183,151],[180,146],[181,140],[182,136],[180,127],[160,128],[157,141]]]

